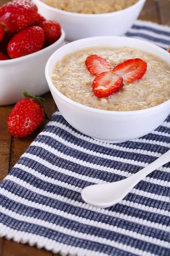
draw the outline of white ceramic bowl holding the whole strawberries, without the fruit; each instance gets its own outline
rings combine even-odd
[[[16,103],[23,91],[42,95],[49,91],[45,79],[45,64],[59,47],[65,44],[65,32],[54,44],[38,52],[6,61],[0,61],[0,105]]]

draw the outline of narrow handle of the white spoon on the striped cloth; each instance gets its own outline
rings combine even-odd
[[[150,163],[148,166],[144,167],[144,169],[133,174],[129,178],[134,180],[134,182],[137,184],[140,180],[142,180],[143,177],[146,177],[148,174],[150,174],[160,166],[163,166],[165,163],[168,163],[169,161],[170,161],[170,150],[168,150],[165,154],[163,154],[161,157],[156,159],[153,163]]]

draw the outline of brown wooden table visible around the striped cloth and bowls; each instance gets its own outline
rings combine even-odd
[[[8,0],[0,0],[0,5],[6,2]],[[170,0],[146,0],[139,18],[170,26]],[[51,115],[56,109],[51,93],[45,94],[44,98],[47,101],[45,105],[46,111]],[[0,107],[0,182],[6,177],[21,154],[24,153],[46,124],[46,121],[44,121],[37,131],[27,138],[14,138],[8,132],[6,125],[8,115],[12,108],[13,105]],[[28,244],[17,244],[13,241],[0,238],[0,256],[57,256],[57,254],[54,255],[54,253],[44,249],[39,250],[37,247],[30,247]]]

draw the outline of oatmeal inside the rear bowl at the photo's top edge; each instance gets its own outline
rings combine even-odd
[[[42,0],[49,6],[67,12],[99,14],[116,12],[137,3],[138,0]]]

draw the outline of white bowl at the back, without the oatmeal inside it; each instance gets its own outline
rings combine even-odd
[[[133,6],[118,12],[82,14],[56,9],[40,0],[32,1],[41,15],[61,24],[68,41],[101,35],[123,35],[133,25],[145,3],[145,0],[139,0]]]

